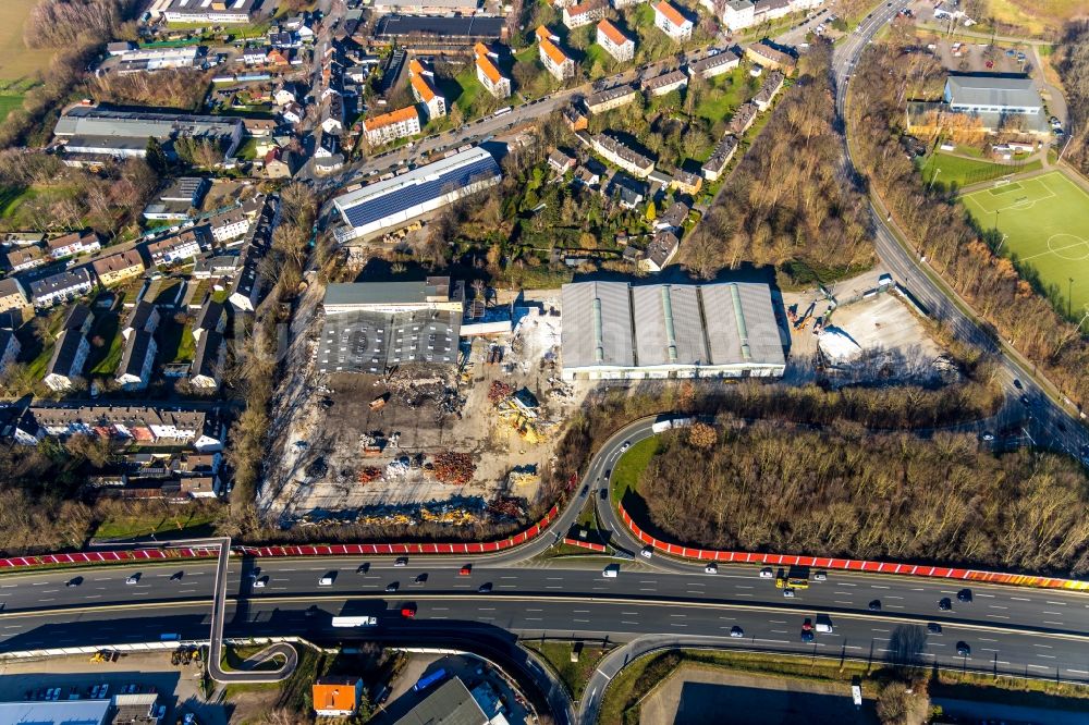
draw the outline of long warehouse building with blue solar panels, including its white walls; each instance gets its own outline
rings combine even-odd
[[[344,243],[404,224],[502,180],[499,163],[482,148],[472,148],[370,184],[333,200],[347,228],[337,230]]]

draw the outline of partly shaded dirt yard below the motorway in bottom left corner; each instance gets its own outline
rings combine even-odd
[[[122,654],[108,664],[91,663],[85,654],[0,664],[2,701],[23,700],[28,691],[50,687],[78,689],[86,696],[89,688],[102,684],[110,686],[110,696],[126,685],[138,685],[143,692],[155,687],[159,703],[167,705],[163,722],[174,722],[182,712],[194,712],[201,723],[210,725],[227,725],[229,721],[223,705],[205,702],[200,695],[199,666],[171,665],[169,652]]]

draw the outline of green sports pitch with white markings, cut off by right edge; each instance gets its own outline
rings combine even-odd
[[[1077,318],[1089,305],[1089,194],[1052,171],[1041,176],[996,182],[991,188],[962,197],[965,207],[983,229],[998,226],[1007,235],[1002,248],[1040,274],[1054,287],[1066,307],[1073,278],[1073,304]]]

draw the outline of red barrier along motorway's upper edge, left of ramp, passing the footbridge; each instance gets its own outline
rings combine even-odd
[[[513,537],[487,543],[388,543],[388,544],[327,544],[304,546],[232,546],[235,554],[246,556],[339,556],[339,555],[399,555],[399,554],[488,554],[505,551],[536,539],[560,514],[559,504],[552,506],[544,518]],[[49,564],[97,564],[102,562],[133,562],[166,558],[204,558],[218,555],[212,548],[191,549],[133,549],[126,551],[90,551],[73,554],[42,554],[0,558],[0,570],[46,566]]]

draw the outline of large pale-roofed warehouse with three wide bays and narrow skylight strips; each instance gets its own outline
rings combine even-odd
[[[779,377],[786,359],[766,284],[563,285],[563,378]]]

